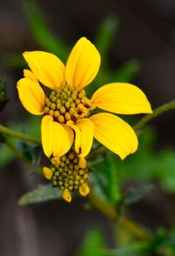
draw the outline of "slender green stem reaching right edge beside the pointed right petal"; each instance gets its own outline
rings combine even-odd
[[[163,106],[159,106],[156,108],[153,113],[146,114],[140,121],[137,122],[137,124],[133,127],[134,130],[137,132],[139,129],[143,128],[144,125],[160,115],[161,113],[165,113],[169,110],[175,109],[175,99],[170,101],[169,103],[164,104]]]

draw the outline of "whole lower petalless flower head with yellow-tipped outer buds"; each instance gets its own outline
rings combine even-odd
[[[71,201],[71,193],[79,190],[82,196],[89,193],[88,168],[85,158],[78,157],[70,150],[62,157],[52,157],[52,166],[44,167],[43,172],[46,179],[52,180],[53,187],[59,187],[63,191],[63,198]]]

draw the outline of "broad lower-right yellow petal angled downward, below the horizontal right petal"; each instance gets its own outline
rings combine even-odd
[[[137,135],[128,123],[112,113],[90,117],[95,124],[95,139],[122,159],[137,150]]]

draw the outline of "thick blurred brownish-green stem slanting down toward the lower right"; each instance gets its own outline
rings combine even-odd
[[[88,200],[95,206],[98,210],[100,210],[105,216],[109,217],[112,221],[116,221],[118,218],[118,213],[116,208],[109,204],[109,202],[102,201],[96,194],[94,194],[91,190],[88,195]],[[122,224],[127,230],[137,238],[142,239],[151,239],[151,233],[145,230],[143,227],[138,225],[137,223],[132,222],[127,216],[123,216],[120,220],[120,224]]]

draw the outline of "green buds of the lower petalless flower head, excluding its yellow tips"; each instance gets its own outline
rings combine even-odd
[[[88,182],[88,169],[80,167],[80,158],[73,151],[60,157],[57,165],[52,165],[52,186],[60,190],[77,190],[82,183]]]

